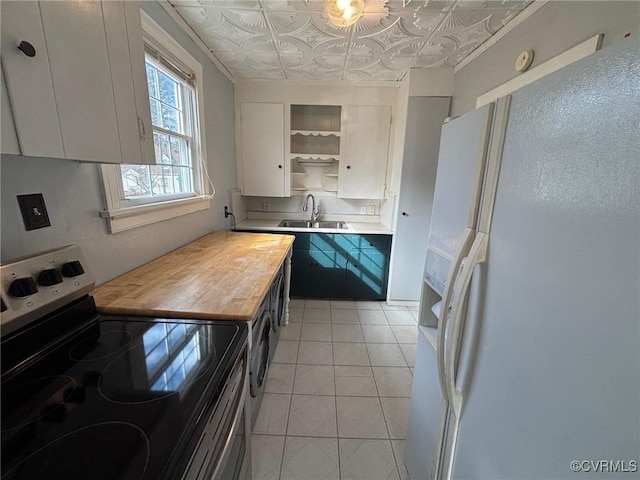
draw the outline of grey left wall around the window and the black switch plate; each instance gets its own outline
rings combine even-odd
[[[229,190],[236,185],[234,86],[159,4],[143,2],[143,9],[202,63],[208,168],[217,190],[211,208],[111,235],[98,216],[105,203],[97,165],[2,155],[2,261],[77,243],[96,281],[103,283],[212,230],[227,228],[223,206],[230,205]],[[16,195],[27,193],[44,194],[51,227],[25,231]]]

